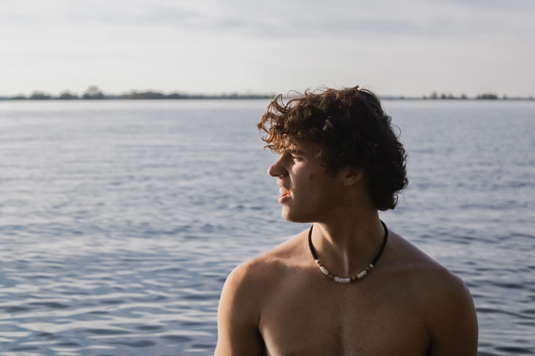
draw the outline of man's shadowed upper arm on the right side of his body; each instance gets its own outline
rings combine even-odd
[[[453,277],[453,278],[452,278]],[[432,356],[476,356],[477,315],[472,296],[464,282],[451,276],[446,288],[430,306]]]

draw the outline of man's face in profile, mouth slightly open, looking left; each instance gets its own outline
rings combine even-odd
[[[320,221],[339,201],[341,181],[338,176],[329,175],[316,159],[317,149],[312,144],[307,147],[291,145],[268,169],[268,174],[277,177],[277,184],[284,188],[279,203],[282,204],[282,217],[288,221]]]

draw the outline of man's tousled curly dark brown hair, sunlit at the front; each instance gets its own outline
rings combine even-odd
[[[365,168],[378,210],[394,209],[407,187],[407,154],[394,131],[397,126],[371,90],[358,85],[306,90],[286,103],[279,95],[257,127],[265,133],[265,147],[275,153],[295,143],[318,144],[316,157],[331,175],[346,167]]]

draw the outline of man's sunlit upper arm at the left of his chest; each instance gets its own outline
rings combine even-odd
[[[215,356],[261,355],[258,331],[259,300],[249,264],[240,265],[228,276],[217,312],[218,339]]]

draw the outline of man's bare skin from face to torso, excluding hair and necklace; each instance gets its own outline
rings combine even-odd
[[[268,170],[286,191],[282,216],[314,223],[318,258],[340,278],[360,273],[384,239],[364,169],[330,175],[314,145]],[[392,231],[361,280],[337,283],[314,263],[308,229],[235,268],[218,310],[217,356],[476,355],[477,319],[464,283]]]

